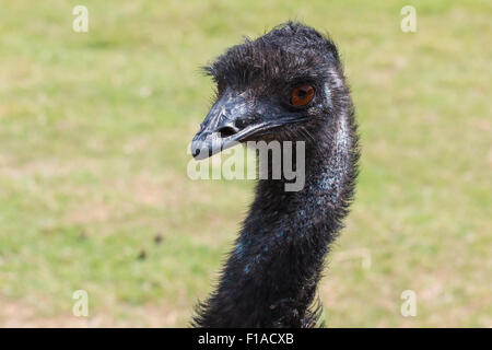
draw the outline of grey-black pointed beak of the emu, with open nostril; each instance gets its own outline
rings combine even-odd
[[[297,115],[267,101],[246,100],[227,89],[215,102],[191,141],[191,154],[204,160],[272,128],[301,121]]]

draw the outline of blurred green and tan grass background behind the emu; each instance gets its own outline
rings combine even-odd
[[[254,188],[187,176],[213,91],[199,67],[291,19],[335,38],[362,135],[327,326],[491,327],[491,16],[490,1],[1,1],[0,326],[187,325]]]

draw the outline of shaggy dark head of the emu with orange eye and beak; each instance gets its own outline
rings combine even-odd
[[[192,140],[194,156],[237,142],[303,138],[332,113],[333,69],[332,42],[297,23],[233,46],[204,69],[216,83],[216,101]]]

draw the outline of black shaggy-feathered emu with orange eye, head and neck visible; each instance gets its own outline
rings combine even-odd
[[[354,110],[336,45],[288,22],[229,48],[206,72],[216,101],[191,142],[203,159],[231,142],[305,142],[305,186],[259,179],[215,291],[195,327],[315,327],[324,261],[358,175]],[[269,166],[271,163],[269,162]]]

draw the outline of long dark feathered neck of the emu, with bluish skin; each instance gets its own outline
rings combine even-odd
[[[306,144],[305,186],[260,180],[219,287],[199,306],[201,327],[312,327],[309,306],[328,245],[352,192],[355,158],[351,115],[324,122]]]

